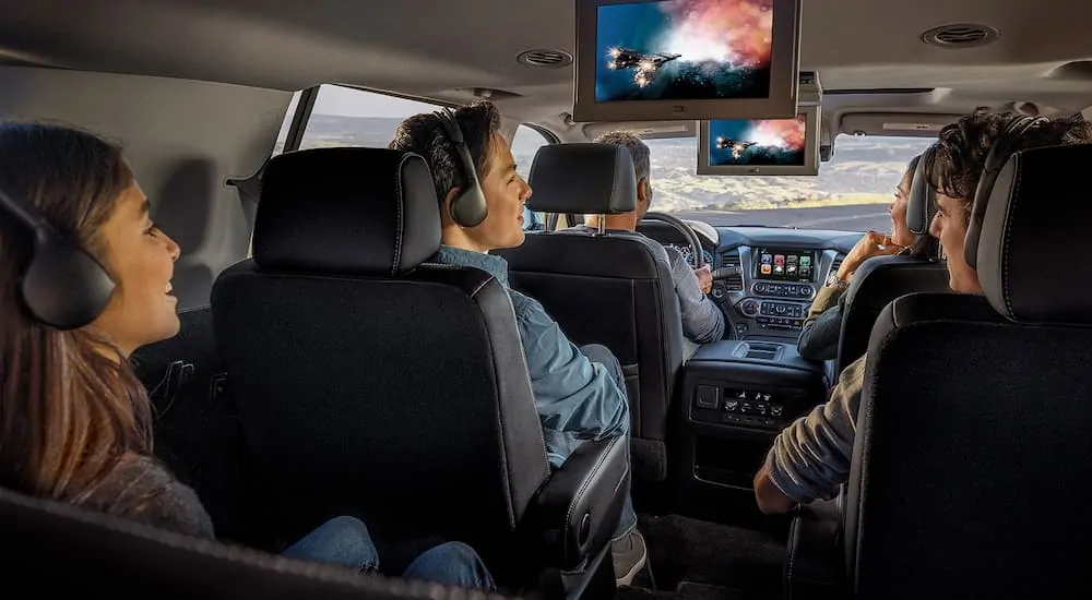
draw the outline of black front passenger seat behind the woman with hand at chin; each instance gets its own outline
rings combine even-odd
[[[926,151],[926,153],[931,152]],[[925,163],[923,157],[922,163]],[[842,329],[839,334],[834,373],[841,373],[868,349],[876,317],[889,302],[915,291],[946,291],[948,269],[938,260],[939,243],[929,233],[936,214],[936,191],[925,177],[925,169],[914,172],[906,204],[906,224],[918,240],[927,239],[921,256],[877,256],[865,261],[845,291]]]

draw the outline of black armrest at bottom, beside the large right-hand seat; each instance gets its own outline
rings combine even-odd
[[[785,589],[788,600],[844,598],[845,567],[838,500],[800,506],[788,529]]]

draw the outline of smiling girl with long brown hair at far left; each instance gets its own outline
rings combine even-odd
[[[194,491],[152,454],[151,401],[128,360],[141,346],[178,334],[170,279],[180,250],[152,223],[121,151],[74,129],[0,124],[0,191],[40,213],[115,284],[105,309],[83,327],[59,329],[34,316],[20,281],[34,259],[35,233],[3,212],[0,485],[214,539]],[[282,555],[379,568],[368,528],[347,516],[320,525]],[[459,542],[425,551],[403,577],[494,589],[477,553]]]

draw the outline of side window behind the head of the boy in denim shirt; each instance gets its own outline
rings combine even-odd
[[[298,149],[331,146],[385,148],[403,119],[438,108],[417,100],[322,84]],[[274,154],[278,154],[284,147],[284,139],[288,135],[295,111],[294,99],[281,127]]]

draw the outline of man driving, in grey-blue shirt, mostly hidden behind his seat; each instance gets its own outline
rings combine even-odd
[[[637,224],[644,218],[652,204],[652,160],[649,146],[637,135],[625,131],[613,131],[601,135],[595,143],[621,146],[633,157],[633,169],[637,171],[637,207],[619,215],[589,215],[584,225],[571,227],[569,230],[596,231],[600,219],[603,219],[603,227],[607,231],[645,238],[643,233],[637,231]],[[655,247],[664,249],[664,252],[655,254],[657,260],[667,264],[667,271],[672,274],[675,293],[679,299],[679,312],[682,314],[682,334],[695,344],[720,340],[724,337],[724,313],[705,296],[713,289],[710,266],[696,269],[675,248],[658,243],[655,243]]]

